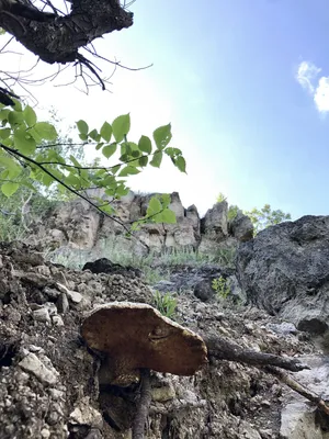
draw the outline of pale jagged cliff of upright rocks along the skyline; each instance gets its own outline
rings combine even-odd
[[[93,195],[101,196],[100,193]],[[132,222],[146,215],[152,195],[131,192],[122,198],[114,203],[114,219],[131,227]],[[241,213],[228,230],[225,201],[216,203],[204,218],[200,218],[196,207],[184,209],[178,192],[173,192],[170,209],[175,213],[177,224],[145,224],[127,238],[126,230],[117,222],[100,215],[83,200],[73,200],[60,204],[47,218],[36,224],[30,243],[38,241],[50,249],[69,246],[94,250],[93,255],[102,247],[115,247],[121,252],[134,255],[182,249],[216,254],[229,239],[229,246],[237,246],[240,240],[252,238],[252,224]]]

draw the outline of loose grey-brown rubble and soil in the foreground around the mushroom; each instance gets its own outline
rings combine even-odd
[[[84,313],[111,301],[152,304],[154,296],[134,272],[72,271],[45,262],[37,248],[1,245],[1,439],[131,437],[137,390],[100,385],[98,358],[80,337]],[[234,311],[229,301],[205,303],[186,289],[178,296],[175,318],[200,335],[218,334],[260,351],[318,358],[307,335],[252,306]],[[324,368],[319,360],[318,367]],[[319,386],[319,374],[315,382]],[[329,424],[319,424],[314,407],[303,399],[292,402],[295,396],[259,369],[214,361],[190,378],[154,372],[151,383],[149,439],[328,436]],[[284,407],[294,404],[305,407],[287,414]]]

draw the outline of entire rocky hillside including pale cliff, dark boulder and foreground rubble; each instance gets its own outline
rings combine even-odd
[[[30,241],[38,246],[0,245],[1,439],[129,439],[138,385],[99,382],[100,358],[80,326],[99,304],[156,305],[155,290],[174,294],[174,318],[201,336],[303,359],[310,369],[293,376],[329,401],[328,217],[283,223],[251,239],[249,219],[239,213],[229,222],[225,202],[200,218],[171,196],[178,223],[143,226],[136,240],[73,201],[35,225]],[[120,218],[143,215],[148,198],[129,194]],[[49,246],[84,251],[83,263],[115,246],[143,257],[196,249],[220,258],[170,267],[155,258],[163,279],[149,286],[139,269],[106,260],[84,271],[53,264],[44,259]],[[227,283],[228,297],[215,294],[214,279]],[[151,386],[148,439],[329,439],[328,417],[257,368],[212,360],[194,376],[152,372]]]

